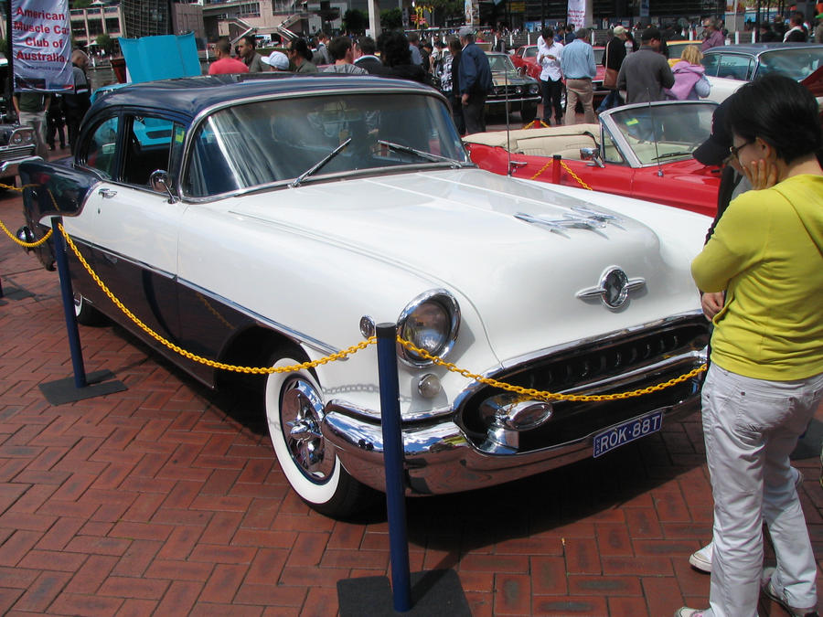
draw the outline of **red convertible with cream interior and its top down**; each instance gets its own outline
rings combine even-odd
[[[711,133],[711,101],[659,101],[617,107],[598,124],[466,135],[472,160],[491,172],[638,197],[713,217],[720,171],[691,153]],[[572,176],[572,173],[580,181]],[[582,181],[582,183],[581,183]]]

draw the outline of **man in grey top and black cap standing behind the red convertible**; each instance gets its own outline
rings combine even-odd
[[[626,103],[665,101],[664,88],[674,85],[674,74],[666,58],[657,53],[661,35],[648,27],[640,35],[640,48],[629,54],[617,74],[617,90],[625,90]]]

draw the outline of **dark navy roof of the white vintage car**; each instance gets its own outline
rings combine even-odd
[[[146,81],[111,90],[94,102],[91,113],[123,106],[163,109],[194,117],[226,101],[305,91],[397,90],[433,93],[436,90],[409,80],[336,73],[256,73],[253,75],[203,75],[175,80]]]

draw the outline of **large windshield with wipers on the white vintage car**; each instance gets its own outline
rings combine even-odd
[[[381,92],[255,101],[221,109],[199,124],[184,192],[210,197],[293,181],[349,139],[305,181],[400,165],[468,164],[448,109],[433,96]]]

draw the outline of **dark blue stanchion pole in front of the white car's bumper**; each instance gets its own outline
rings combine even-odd
[[[409,541],[406,532],[406,502],[403,483],[403,438],[397,375],[397,326],[378,324],[377,337],[380,416],[383,427],[383,458],[386,467],[386,505],[389,512],[391,593],[394,610],[407,612],[412,608],[412,580],[409,574]]]

